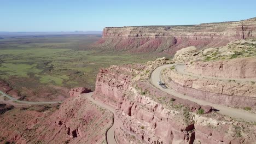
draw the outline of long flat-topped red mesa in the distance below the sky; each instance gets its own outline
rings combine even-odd
[[[222,46],[235,39],[255,38],[256,18],[195,26],[106,27],[97,47],[129,51],[166,51],[187,46]],[[125,48],[124,48],[125,47]]]

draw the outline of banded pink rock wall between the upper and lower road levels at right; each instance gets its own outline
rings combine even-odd
[[[164,70],[161,77],[166,85],[190,97],[231,107],[256,109],[256,84],[253,82],[198,78],[171,69]]]

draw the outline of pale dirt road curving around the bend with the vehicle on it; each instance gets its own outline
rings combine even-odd
[[[195,103],[197,103],[199,105],[210,105],[210,106],[213,106],[214,109],[219,110],[218,112],[223,114],[223,115],[234,117],[234,118],[238,118],[238,119],[243,119],[245,121],[254,121],[254,122],[256,122],[256,113],[251,113],[251,112],[244,111],[244,110],[234,109],[234,108],[231,108],[231,107],[228,107],[228,106],[224,106],[224,105],[218,105],[218,104],[209,103],[208,101],[205,101],[205,100],[195,99],[193,97],[189,97],[188,95],[184,95],[184,94],[178,93],[178,92],[174,91],[173,89],[162,88],[161,86],[159,86],[158,85],[158,81],[161,81],[161,71],[166,69],[166,68],[170,68],[173,65],[176,65],[176,64],[162,65],[161,67],[158,67],[158,68],[156,68],[153,71],[153,73],[151,75],[151,82],[152,82],[152,84],[156,88],[160,89],[163,92],[171,94],[171,95],[173,95],[175,97],[182,98],[182,99],[188,99],[190,101],[194,101]],[[178,68],[177,71],[184,71],[184,69],[182,70],[182,69]]]

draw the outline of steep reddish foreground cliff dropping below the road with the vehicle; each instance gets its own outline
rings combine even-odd
[[[255,126],[210,112],[211,107],[202,107],[152,87],[148,79],[150,71],[164,63],[170,61],[157,59],[140,65],[139,70],[131,65],[100,70],[94,98],[115,106],[115,137],[119,143],[224,144],[255,141]],[[206,113],[197,115],[199,109]]]

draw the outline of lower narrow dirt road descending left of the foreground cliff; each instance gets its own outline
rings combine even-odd
[[[111,111],[114,114],[114,116],[115,116],[115,109],[114,109],[114,107],[106,105],[106,104],[102,103],[101,101],[97,101],[97,100],[93,99],[91,97],[93,94],[94,94],[94,92],[84,93],[82,95],[84,97],[86,97],[87,99],[89,99],[90,101],[92,101],[92,103],[94,103],[94,104],[96,104],[96,105],[98,105],[100,107],[103,107],[104,109],[107,109],[107,110]],[[114,131],[115,131],[115,123],[114,123],[114,118],[113,118],[113,125],[112,125],[112,127],[110,127],[107,130],[106,139],[107,139],[107,143],[108,144],[117,144],[117,141],[115,140],[115,136],[114,136]]]

